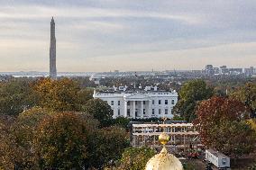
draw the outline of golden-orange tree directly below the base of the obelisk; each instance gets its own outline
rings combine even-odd
[[[79,90],[78,84],[69,78],[42,78],[34,85],[34,91],[40,98],[40,106],[57,112],[78,111]]]

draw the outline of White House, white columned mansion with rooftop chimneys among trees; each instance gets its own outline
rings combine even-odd
[[[114,118],[172,118],[172,109],[178,102],[176,91],[161,91],[152,86],[145,89],[127,90],[127,86],[113,87],[111,90],[94,92],[94,98],[106,101],[114,111]]]

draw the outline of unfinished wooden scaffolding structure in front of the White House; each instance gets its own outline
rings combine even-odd
[[[204,147],[192,123],[133,124],[132,146],[160,148],[158,137],[163,131],[170,137],[166,145],[170,150],[187,151]]]

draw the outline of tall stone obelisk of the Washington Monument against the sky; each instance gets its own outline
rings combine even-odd
[[[57,79],[55,22],[53,17],[50,21],[50,78]]]

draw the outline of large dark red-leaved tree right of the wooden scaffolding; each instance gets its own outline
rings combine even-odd
[[[245,123],[248,112],[243,103],[233,98],[212,97],[197,107],[195,126],[208,148],[229,156],[242,156],[252,151],[253,130]]]

